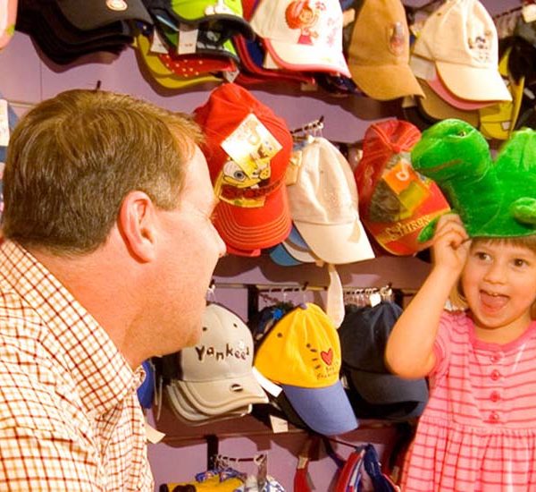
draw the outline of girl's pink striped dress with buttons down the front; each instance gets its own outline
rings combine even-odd
[[[404,492],[536,491],[536,322],[504,345],[445,313],[431,393],[407,455]]]

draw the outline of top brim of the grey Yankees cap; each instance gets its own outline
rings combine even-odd
[[[176,380],[175,385],[195,408],[207,415],[234,411],[253,403],[267,403],[264,389],[253,373],[214,381]]]

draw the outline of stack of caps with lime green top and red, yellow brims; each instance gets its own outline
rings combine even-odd
[[[144,0],[155,30],[137,39],[139,64],[167,89],[232,79],[239,56],[231,37],[253,37],[238,0]]]

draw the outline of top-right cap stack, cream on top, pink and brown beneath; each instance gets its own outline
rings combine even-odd
[[[416,99],[417,110],[430,123],[457,118],[478,127],[497,120],[503,101],[509,124],[512,95],[499,72],[497,29],[479,0],[452,0],[431,13],[410,64],[425,96]]]

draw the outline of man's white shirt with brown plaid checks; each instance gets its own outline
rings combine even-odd
[[[142,378],[37,259],[0,246],[0,490],[152,491]]]

